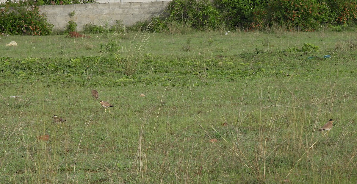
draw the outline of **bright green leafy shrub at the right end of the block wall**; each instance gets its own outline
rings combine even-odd
[[[208,0],[173,0],[167,5],[170,21],[190,22],[195,29],[216,28],[219,12]]]

